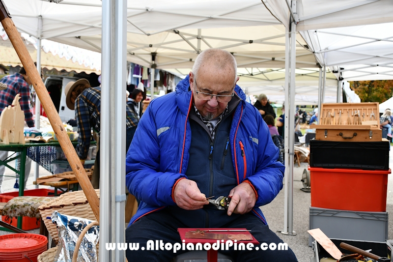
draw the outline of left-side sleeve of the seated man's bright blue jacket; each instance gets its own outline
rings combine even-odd
[[[152,108],[140,118],[130,149],[126,156],[126,185],[128,191],[146,204],[174,205],[172,188],[183,174],[160,172],[160,145],[155,115]]]

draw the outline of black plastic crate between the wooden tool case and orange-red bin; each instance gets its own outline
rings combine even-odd
[[[389,170],[389,142],[310,141],[310,167]]]

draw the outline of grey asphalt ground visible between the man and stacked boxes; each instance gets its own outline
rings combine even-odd
[[[12,164],[11,164],[12,165]],[[35,185],[32,184],[34,172],[34,163],[32,164],[31,173],[28,179],[27,188],[33,189]],[[390,155],[390,167],[393,168],[393,154]],[[283,230],[284,226],[284,191],[281,190],[276,199],[262,207],[263,213],[267,219],[269,227],[272,231],[277,232],[281,239],[288,243],[292,248],[299,262],[309,262],[313,257],[312,248],[308,245],[309,234],[309,206],[310,193],[305,193],[300,190],[303,187],[302,174],[304,169],[307,169],[307,163],[302,163],[301,167],[297,164],[294,166],[294,182],[293,182],[293,230],[297,233],[295,236],[283,235],[279,232]],[[6,169],[6,175],[14,175],[10,170]],[[40,176],[50,175],[49,172],[40,167]],[[6,177],[4,181],[5,191],[14,191],[13,185],[15,178]],[[371,189],[370,189],[371,190]],[[391,214],[389,217],[389,239],[393,239],[393,175],[389,175],[388,194],[387,194],[387,211]],[[7,232],[0,231],[0,234]],[[31,233],[38,233],[38,230],[33,230]]]

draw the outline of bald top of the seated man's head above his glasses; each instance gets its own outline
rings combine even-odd
[[[236,59],[231,53],[221,49],[207,49],[200,53],[193,66],[193,74],[197,79],[199,74],[220,76],[233,76],[236,82],[237,65]]]

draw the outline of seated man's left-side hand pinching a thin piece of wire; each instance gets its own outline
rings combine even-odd
[[[186,210],[197,210],[209,204],[206,196],[200,193],[197,183],[189,179],[181,179],[177,182],[173,198],[179,207]]]

